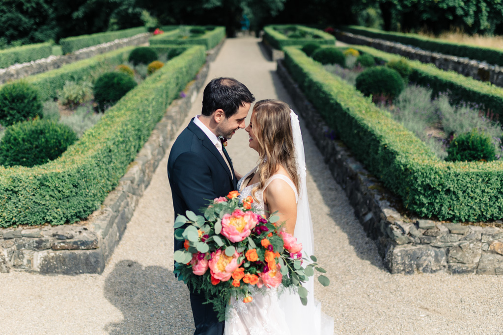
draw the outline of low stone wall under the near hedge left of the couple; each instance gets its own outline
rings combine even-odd
[[[182,126],[223,41],[208,53],[207,62],[185,92],[173,101],[150,138],[129,165],[118,186],[100,209],[72,225],[0,229],[0,272],[11,269],[42,274],[102,273],[119,244],[155,168]]]

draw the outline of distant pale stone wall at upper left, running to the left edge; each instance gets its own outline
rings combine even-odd
[[[128,38],[102,43],[88,48],[76,50],[63,56],[49,56],[35,61],[14,64],[8,68],[0,69],[0,84],[10,80],[24,78],[33,74],[54,70],[63,65],[76,62],[78,60],[90,58],[105,52],[124,48],[131,45],[141,45],[148,42],[150,33],[142,33]]]

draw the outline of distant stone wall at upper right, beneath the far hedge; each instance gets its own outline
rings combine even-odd
[[[437,52],[430,52],[400,43],[355,35],[340,30],[336,30],[336,38],[338,41],[348,44],[367,45],[385,52],[398,54],[409,59],[415,59],[422,63],[432,63],[439,69],[453,70],[465,77],[472,77],[481,81],[489,81],[494,85],[503,87],[503,69],[498,65],[490,65],[485,62],[465,57],[456,57]]]

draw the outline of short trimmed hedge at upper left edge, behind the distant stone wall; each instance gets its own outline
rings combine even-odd
[[[52,55],[52,43],[37,43],[0,50],[0,69],[16,63],[46,58]]]

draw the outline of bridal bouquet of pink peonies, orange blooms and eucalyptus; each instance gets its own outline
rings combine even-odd
[[[178,279],[203,292],[220,321],[231,296],[243,302],[253,299],[250,286],[260,290],[282,284],[296,289],[307,304],[302,284],[314,270],[325,270],[317,266],[316,257],[302,257],[302,244],[278,224],[278,215],[266,219],[252,209],[251,196],[242,201],[238,196],[232,191],[214,199],[204,217],[192,211],[177,217],[175,238],[185,241],[184,249],[174,254]],[[318,281],[329,284],[323,275]]]

